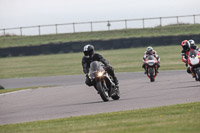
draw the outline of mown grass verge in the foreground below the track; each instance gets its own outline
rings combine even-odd
[[[1,133],[199,133],[200,102],[0,126]]]

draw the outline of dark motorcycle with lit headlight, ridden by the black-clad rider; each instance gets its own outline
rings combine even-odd
[[[109,101],[110,97],[113,100],[120,98],[119,87],[113,82],[112,76],[105,71],[103,64],[98,61],[91,62],[88,76],[104,102]]]

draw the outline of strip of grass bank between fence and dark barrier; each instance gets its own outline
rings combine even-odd
[[[0,48],[40,45],[48,43],[72,42],[72,41],[88,41],[88,40],[109,40],[117,38],[131,37],[153,37],[153,36],[174,36],[200,34],[200,24],[195,25],[174,25],[157,28],[145,29],[128,29],[100,32],[84,32],[84,33],[68,33],[58,35],[42,35],[42,36],[14,36],[0,37]]]

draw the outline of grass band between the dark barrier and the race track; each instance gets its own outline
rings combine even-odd
[[[97,51],[114,67],[115,72],[143,71],[145,47]],[[157,46],[161,58],[160,70],[185,69],[181,61],[181,46]],[[83,53],[0,58],[0,78],[38,77],[83,74]]]

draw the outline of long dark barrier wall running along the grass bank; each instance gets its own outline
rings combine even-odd
[[[42,44],[38,46],[21,46],[0,48],[0,57],[7,56],[29,56],[40,54],[57,54],[69,52],[81,52],[83,46],[90,43],[96,50],[121,49],[142,46],[164,46],[177,44],[180,45],[182,40],[193,39],[200,43],[200,34],[182,35],[182,36],[160,36],[160,37],[140,37],[140,38],[122,38],[111,40],[91,40],[83,42],[67,42],[57,44]]]

